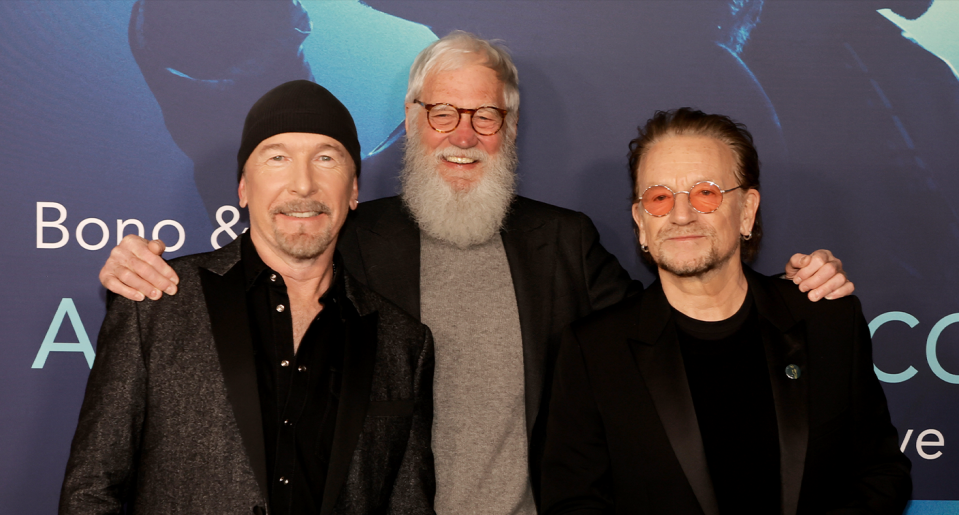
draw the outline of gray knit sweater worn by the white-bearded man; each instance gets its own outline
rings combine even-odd
[[[420,241],[421,317],[436,343],[436,512],[533,515],[523,340],[503,240]]]

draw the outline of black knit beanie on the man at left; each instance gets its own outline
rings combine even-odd
[[[360,141],[350,112],[323,86],[294,80],[271,89],[250,108],[236,154],[237,181],[243,165],[263,140],[284,132],[322,134],[339,141],[353,158],[360,175]]]

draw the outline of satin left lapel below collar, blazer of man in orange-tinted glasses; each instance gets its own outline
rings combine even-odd
[[[700,507],[706,515],[719,515],[675,327],[667,324],[653,345],[633,341],[631,348],[669,443]]]

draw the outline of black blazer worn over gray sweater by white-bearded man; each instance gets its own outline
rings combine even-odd
[[[549,385],[563,328],[642,285],[599,243],[589,217],[517,197],[501,232],[523,337],[530,479],[539,501]],[[420,317],[420,230],[399,197],[363,202],[337,249],[353,275]]]

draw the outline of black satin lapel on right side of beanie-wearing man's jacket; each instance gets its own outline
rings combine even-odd
[[[339,407],[336,411],[333,449],[326,475],[326,486],[323,488],[321,515],[329,515],[333,512],[333,507],[349,474],[360,432],[363,431],[373,384],[378,316],[374,311],[364,316],[347,319],[343,379]]]

